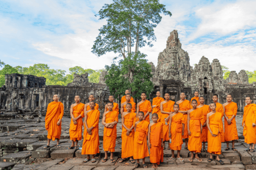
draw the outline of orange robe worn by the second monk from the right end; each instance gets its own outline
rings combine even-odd
[[[231,101],[230,104],[225,106],[225,114],[228,118],[231,118],[233,115],[236,116],[237,113],[237,104]],[[236,117],[233,118],[231,124],[229,125],[225,118],[225,141],[237,140],[238,134],[236,129]]]

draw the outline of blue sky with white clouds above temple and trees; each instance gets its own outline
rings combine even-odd
[[[94,15],[112,1],[1,0],[0,60],[11,66],[37,63],[69,72],[69,67],[99,70],[118,54],[94,55],[92,46],[106,20]],[[162,0],[172,16],[163,15],[155,28],[153,47],[143,47],[148,62],[166,48],[170,32],[178,30],[190,65],[205,56],[218,58],[230,71],[254,71],[256,63],[256,1]]]

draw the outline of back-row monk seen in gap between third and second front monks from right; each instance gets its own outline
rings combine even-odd
[[[186,100],[185,92],[180,93],[180,100],[176,103],[179,105],[180,110],[179,112],[183,114],[184,117],[184,135],[182,135],[182,139],[185,139],[185,149],[188,149],[188,114],[187,112],[190,109],[190,101]]]

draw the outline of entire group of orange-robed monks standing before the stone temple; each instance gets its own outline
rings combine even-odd
[[[229,150],[229,141],[232,141],[232,150],[236,151],[235,140],[238,139],[236,128],[237,104],[232,101],[232,96],[227,95],[227,103],[221,105],[218,103],[218,95],[213,95],[213,103],[204,104],[204,97],[198,97],[198,91],[195,91],[195,97],[191,101],[186,100],[185,92],[181,92],[180,100],[176,103],[170,100],[168,93],[161,98],[159,91],[153,103],[146,99],[146,93],[142,92],[140,103],[136,104],[131,97],[129,90],[125,91],[125,96],[121,100],[122,115],[122,159],[119,163],[129,161],[135,167],[140,167],[139,159],[142,159],[142,165],[145,164],[145,157],[150,156],[150,162],[153,168],[157,168],[160,162],[163,162],[163,149],[165,143],[169,142],[168,148],[172,150],[173,160],[174,150],[178,151],[177,159],[183,161],[180,157],[180,150],[185,139],[185,149],[191,152],[189,161],[195,159],[202,162],[198,153],[202,150],[210,153],[208,162],[213,160],[212,154],[216,154],[216,159],[223,164],[219,158],[221,154],[221,142],[227,142]],[[59,101],[58,95],[53,96],[53,102],[47,107],[45,116],[45,128],[48,131],[47,145],[50,147],[50,141],[57,139],[59,148],[59,139],[61,135],[61,119],[63,116],[63,104]],[[67,149],[78,149],[77,143],[82,140],[82,126],[84,125],[82,155],[87,155],[84,162],[96,162],[95,155],[99,154],[99,105],[94,102],[94,96],[89,96],[89,103],[80,103],[80,97],[75,96],[75,104],[70,107],[70,140],[72,144]],[[110,152],[110,161],[114,160],[114,151],[116,146],[119,107],[114,103],[114,97],[109,96],[109,101],[105,106],[102,124],[105,126],[103,132],[103,149],[105,157],[102,162],[108,160],[108,151]],[[256,143],[256,105],[252,104],[250,97],[246,97],[246,106],[243,116],[243,135],[245,142],[250,144],[246,151],[254,152]],[[150,123],[149,114],[153,113]],[[222,117],[225,117],[225,127],[223,128]],[[84,117],[84,122],[82,118]],[[207,150],[205,142],[208,142]],[[150,148],[150,155],[148,151]],[[195,156],[194,156],[195,155]],[[91,159],[92,157],[92,159]]]

